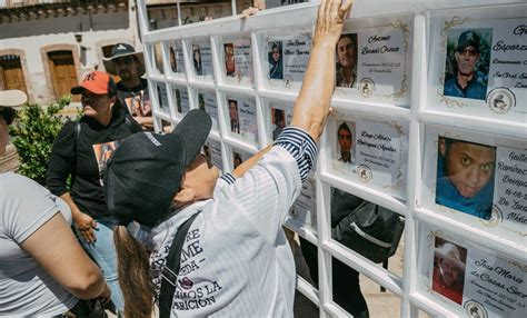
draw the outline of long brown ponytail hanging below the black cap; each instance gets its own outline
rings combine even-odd
[[[155,294],[148,251],[130,236],[126,226],[116,227],[113,241],[119,286],[125,298],[125,317],[151,317]]]

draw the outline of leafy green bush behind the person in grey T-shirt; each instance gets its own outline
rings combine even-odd
[[[63,126],[63,117],[59,111],[68,106],[70,100],[71,96],[63,96],[48,108],[28,103],[18,111],[17,120],[10,127],[20,158],[18,172],[42,186],[46,185],[51,146]]]

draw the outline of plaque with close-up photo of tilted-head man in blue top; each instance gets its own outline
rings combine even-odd
[[[421,203],[509,240],[527,237],[525,139],[427,125]]]

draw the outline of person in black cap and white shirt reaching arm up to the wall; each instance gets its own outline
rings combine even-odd
[[[316,162],[335,88],[335,48],[351,3],[321,1],[291,125],[232,173],[218,178],[200,155],[211,119],[199,109],[172,133],[137,133],[116,150],[105,191],[120,225],[115,239],[127,317],[150,317],[162,286],[176,288],[160,304],[175,317],[292,317],[295,261],[282,226]],[[192,252],[182,255],[172,280],[167,254],[193,216],[182,245]],[[128,231],[133,220],[149,227],[150,254]]]

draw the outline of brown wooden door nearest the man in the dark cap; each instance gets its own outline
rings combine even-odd
[[[73,86],[79,85],[73,54],[71,51],[54,51],[48,53],[48,59],[54,98],[59,99],[70,93]],[[79,96],[73,96],[73,101],[79,100]]]

